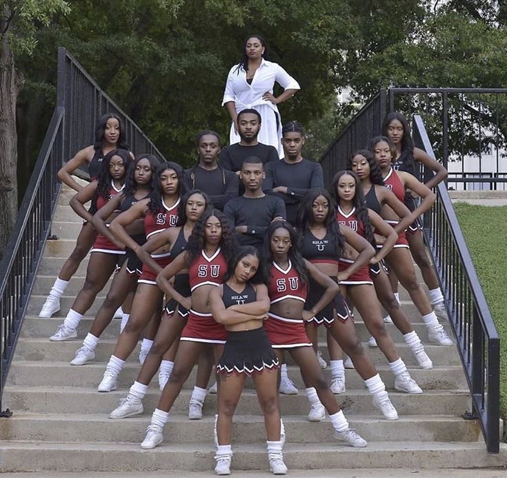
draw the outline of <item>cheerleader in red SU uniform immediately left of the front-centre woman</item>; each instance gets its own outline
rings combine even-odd
[[[162,430],[169,419],[172,404],[205,346],[213,346],[216,359],[223,352],[227,332],[223,325],[213,319],[208,295],[212,288],[223,282],[235,248],[234,231],[226,216],[217,209],[207,210],[188,238],[186,251],[157,276],[160,288],[190,312],[181,332],[175,366],[153,412],[141,448],[155,448],[163,441]],[[172,277],[185,269],[188,269],[190,297],[184,297],[169,283]]]

